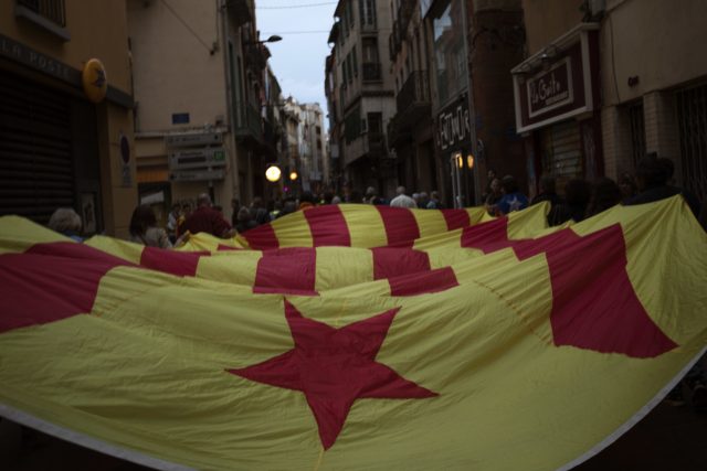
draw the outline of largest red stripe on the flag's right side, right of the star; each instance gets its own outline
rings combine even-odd
[[[506,221],[464,229],[462,246],[485,253],[513,247],[521,260],[546,254],[556,345],[639,358],[677,346],[653,322],[633,289],[620,224],[584,237],[568,228],[534,240],[508,240]]]

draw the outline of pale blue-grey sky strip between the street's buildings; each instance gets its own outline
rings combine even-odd
[[[283,36],[268,44],[270,65],[284,97],[299,103],[319,103],[326,113],[324,61],[329,54],[327,39],[334,24],[334,0],[255,0],[261,40]],[[293,8],[312,6],[306,8]],[[304,33],[310,32],[310,33]],[[326,119],[325,119],[326,122]]]

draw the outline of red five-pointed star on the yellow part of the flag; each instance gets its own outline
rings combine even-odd
[[[328,449],[358,398],[403,399],[437,395],[376,361],[399,309],[334,329],[303,318],[285,300],[285,318],[295,347],[257,365],[229,372],[258,383],[302,390],[317,420],[321,445]]]

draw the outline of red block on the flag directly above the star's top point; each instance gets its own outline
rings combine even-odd
[[[314,248],[266,250],[257,261],[253,292],[317,295],[317,251]]]

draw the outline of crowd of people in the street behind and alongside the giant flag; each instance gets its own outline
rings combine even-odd
[[[548,224],[557,226],[569,221],[583,221],[616,204],[643,204],[680,194],[703,227],[707,227],[707,212],[704,205],[700,205],[695,194],[672,183],[674,170],[671,159],[648,154],[637,162],[635,175],[623,173],[618,182],[606,176],[592,183],[582,179],[571,179],[563,182],[561,194],[557,191],[556,178],[546,174],[540,178],[539,192],[532,199],[520,191],[513,175],[499,178],[490,170],[483,202],[490,215],[503,216],[547,201],[550,204]],[[129,238],[145,246],[171,248],[181,244],[187,234],[204,232],[215,237],[231,238],[297,211],[317,205],[346,203],[444,208],[437,191],[409,193],[404,186],[398,186],[395,195],[388,200],[378,194],[373,186],[369,186],[363,193],[351,190],[344,195],[337,195],[330,191],[320,194],[305,191],[299,197],[286,196],[268,202],[255,196],[249,205],[233,200],[230,216],[226,216],[223,207],[214,205],[209,194],[204,193],[196,200],[175,203],[163,228],[159,226],[151,206],[137,206],[130,218]],[[56,210],[49,226],[75,240],[82,240],[81,217],[72,208]]]

